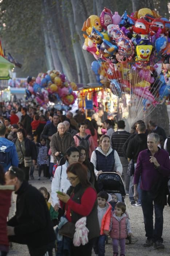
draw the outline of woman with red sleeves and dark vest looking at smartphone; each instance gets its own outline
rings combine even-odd
[[[87,180],[87,168],[79,162],[72,163],[67,168],[67,180],[71,183],[67,194],[58,194],[58,198],[64,203],[65,216],[72,223],[86,217],[86,227],[89,230],[87,244],[80,246],[71,244],[71,256],[91,256],[95,238],[100,233],[97,193]]]

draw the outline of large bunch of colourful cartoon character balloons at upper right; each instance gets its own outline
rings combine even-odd
[[[82,31],[87,33],[83,49],[96,59],[91,65],[96,80],[101,83],[104,69],[103,83],[109,81],[122,102],[130,94],[131,105],[141,108],[145,101],[146,109],[170,94],[169,20],[148,8],[120,16],[105,7],[100,17],[87,18]]]

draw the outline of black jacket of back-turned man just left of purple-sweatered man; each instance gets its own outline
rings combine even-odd
[[[147,135],[145,133],[137,134],[128,143],[126,150],[127,158],[133,159],[136,163],[139,153],[145,149],[147,149]]]

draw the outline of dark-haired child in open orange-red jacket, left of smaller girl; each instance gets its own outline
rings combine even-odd
[[[96,238],[93,249],[96,255],[104,256],[106,235],[109,233],[111,219],[111,205],[107,203],[108,194],[105,191],[98,193],[98,220],[100,236]]]

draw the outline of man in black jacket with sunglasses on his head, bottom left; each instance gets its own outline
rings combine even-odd
[[[24,172],[17,167],[11,166],[5,179],[17,194],[15,216],[7,223],[9,241],[26,244],[31,256],[51,256],[55,233],[43,195],[24,180]]]

